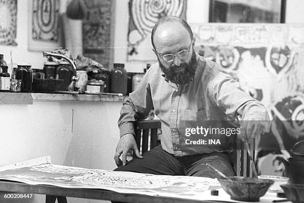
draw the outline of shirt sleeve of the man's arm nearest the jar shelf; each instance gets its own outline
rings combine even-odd
[[[137,90],[130,93],[129,98],[123,102],[118,119],[120,137],[128,133],[135,135],[134,122],[147,118],[152,109],[153,102],[148,79],[149,72],[146,73]]]

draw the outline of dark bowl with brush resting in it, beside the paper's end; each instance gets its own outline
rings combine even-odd
[[[231,200],[259,202],[268,188],[274,183],[268,179],[229,177],[231,180],[218,179],[224,191]]]

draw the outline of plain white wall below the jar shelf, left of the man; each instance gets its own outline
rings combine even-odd
[[[53,164],[113,170],[121,106],[122,102],[65,101],[0,105],[0,166],[50,155]],[[0,202],[6,203],[3,195]],[[35,195],[29,202],[44,201],[45,196]],[[76,198],[68,202],[97,203]]]

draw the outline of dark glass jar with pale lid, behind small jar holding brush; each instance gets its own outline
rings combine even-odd
[[[15,79],[21,80],[21,92],[32,92],[33,71],[29,63],[18,63],[15,72]]]

